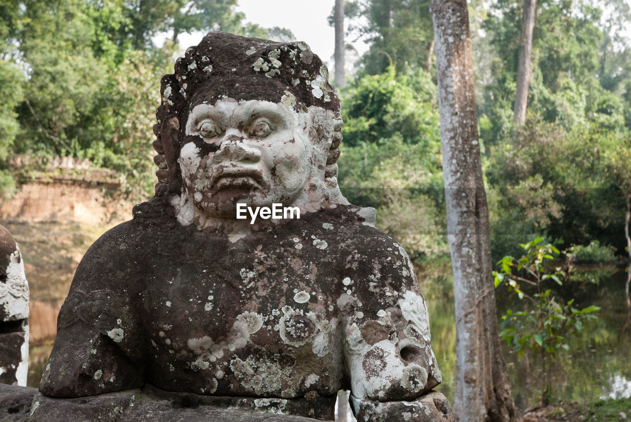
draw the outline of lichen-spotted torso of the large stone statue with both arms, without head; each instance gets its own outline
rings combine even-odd
[[[77,269],[40,390],[78,397],[153,384],[255,399],[428,391],[440,374],[410,260],[340,208],[236,242],[151,218],[115,227]]]

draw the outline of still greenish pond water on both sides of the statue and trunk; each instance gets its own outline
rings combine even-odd
[[[596,401],[601,398],[631,396],[631,329],[623,331],[626,321],[624,268],[589,266],[575,268],[572,280],[557,288],[555,294],[567,301],[575,298],[579,309],[601,307],[598,320],[584,328],[581,338],[570,340],[570,351],[561,351],[551,372],[553,399]],[[419,284],[430,312],[432,348],[439,362],[443,382],[438,390],[451,402],[454,397],[456,367],[456,327],[454,294],[449,263],[417,268]],[[550,286],[553,287],[553,286]],[[498,314],[518,309],[520,301],[497,289]],[[52,340],[32,343],[28,385],[37,387],[44,370]],[[541,397],[540,356],[518,358],[504,350],[516,405],[520,409],[536,406]],[[348,419],[349,421],[351,419]]]

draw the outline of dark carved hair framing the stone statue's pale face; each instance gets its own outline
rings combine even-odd
[[[157,137],[153,147],[158,152],[153,159],[158,166],[157,197],[180,193],[179,139],[196,98],[208,100],[211,105],[226,97],[282,101],[303,113],[315,106],[309,109],[315,114],[309,138],[312,142],[330,143],[325,179],[327,185],[337,185],[336,161],[342,139],[339,96],[329,84],[326,66],[305,43],[280,43],[219,31],[208,33],[176,60],[174,74],[162,77],[160,94],[158,123],[153,126]]]

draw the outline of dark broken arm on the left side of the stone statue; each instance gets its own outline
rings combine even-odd
[[[143,382],[138,324],[121,242],[106,233],[77,268],[57,319],[57,337],[40,391],[51,397],[94,396]]]

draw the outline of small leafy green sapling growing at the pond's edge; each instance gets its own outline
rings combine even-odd
[[[510,292],[524,301],[523,310],[508,309],[502,316],[500,338],[518,353],[519,358],[524,356],[526,350],[533,355],[541,353],[541,404],[547,406],[551,397],[550,370],[557,352],[569,350],[567,339],[580,335],[584,322],[596,319],[594,312],[600,308],[588,306],[579,310],[572,306],[574,299],[567,304],[557,301],[547,285],[562,285],[565,273],[560,267],[551,271],[546,269],[545,261],[553,259],[553,254],[559,251],[551,244],[541,242],[543,238],[537,237],[531,242],[520,244],[525,254],[519,259],[505,256],[498,262],[501,270],[494,271],[493,275],[496,288],[504,283]],[[522,285],[529,287],[522,289]]]

